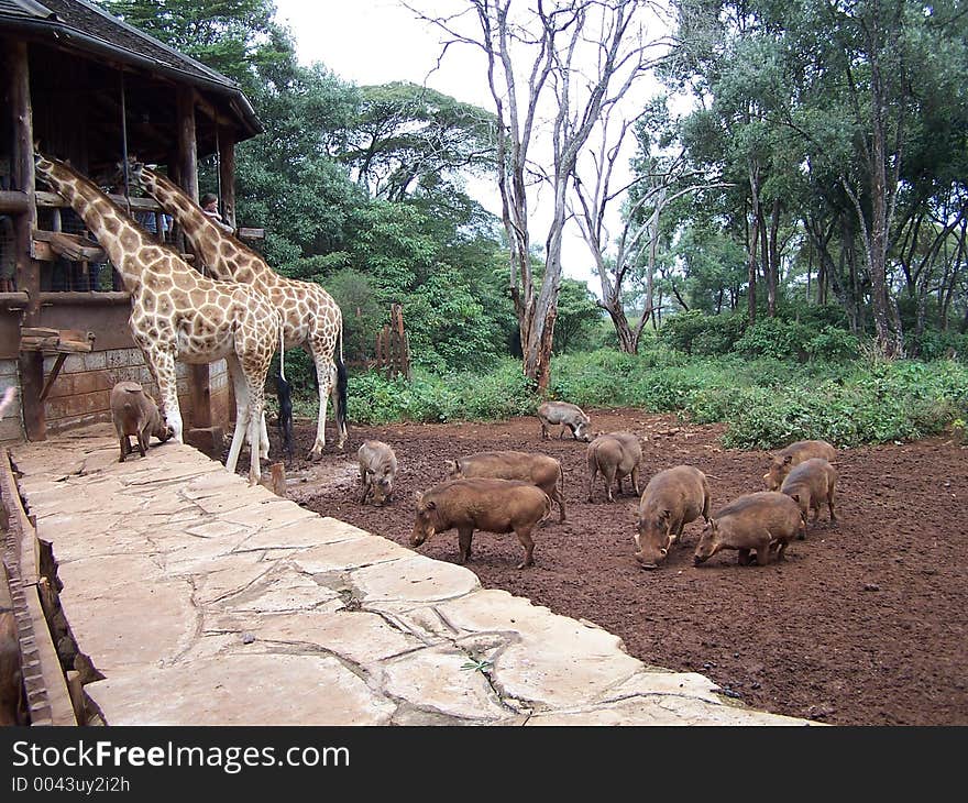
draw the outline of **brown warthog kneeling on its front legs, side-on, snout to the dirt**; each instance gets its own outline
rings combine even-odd
[[[787,494],[760,491],[746,494],[713,514],[703,529],[693,562],[698,565],[721,549],[739,551],[739,564],[749,565],[750,551],[756,550],[757,563],[765,566],[770,553],[783,558],[787,544],[803,531],[800,506]]]

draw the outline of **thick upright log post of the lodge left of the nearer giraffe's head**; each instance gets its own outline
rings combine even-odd
[[[30,64],[26,43],[3,40],[7,72],[10,76],[10,113],[13,129],[12,189],[28,196],[26,209],[13,216],[14,248],[16,250],[16,286],[28,294],[23,326],[35,327],[41,320],[41,265],[31,257],[31,237],[37,224],[34,190],[34,124],[30,95]],[[44,386],[44,355],[38,351],[21,352],[21,408],[28,440],[47,439],[47,418],[41,402]]]

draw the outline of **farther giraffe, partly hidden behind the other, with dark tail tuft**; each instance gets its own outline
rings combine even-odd
[[[302,346],[309,352],[319,382],[316,440],[307,459],[319,459],[326,446],[327,398],[330,395],[336,410],[337,448],[342,449],[346,442],[343,316],[332,296],[312,282],[279,276],[258,254],[222,231],[201,207],[165,176],[136,160],[130,163],[130,175],[182,227],[202,264],[216,278],[252,285],[283,314],[286,348]]]

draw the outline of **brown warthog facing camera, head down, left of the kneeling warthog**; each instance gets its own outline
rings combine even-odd
[[[706,475],[691,465],[660,471],[649,480],[639,502],[635,558],[644,569],[656,569],[682,540],[682,528],[700,516],[710,520]]]

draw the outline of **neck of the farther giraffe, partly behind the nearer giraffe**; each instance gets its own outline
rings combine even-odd
[[[255,260],[232,238],[227,237],[201,208],[174,182],[150,169],[142,168],[142,184],[148,195],[168,212],[201,261],[216,278],[251,283],[258,274]]]

